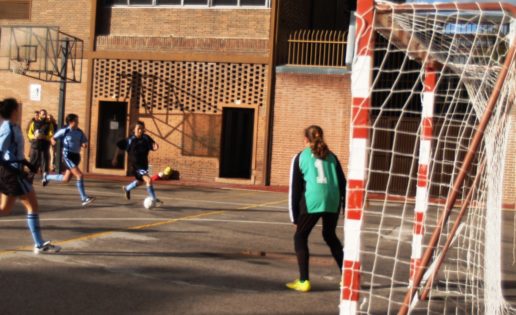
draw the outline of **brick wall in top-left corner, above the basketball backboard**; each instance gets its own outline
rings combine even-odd
[[[91,0],[32,0],[30,21],[0,20],[0,25],[59,26],[84,41],[89,49]]]

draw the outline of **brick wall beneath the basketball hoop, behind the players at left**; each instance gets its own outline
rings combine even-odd
[[[88,61],[83,61],[83,78],[86,77]],[[59,83],[46,83],[34,80],[22,75],[13,74],[11,72],[0,72],[2,76],[0,84],[0,99],[6,97],[14,97],[22,102],[22,115],[20,126],[22,130],[33,117],[36,110],[45,108],[48,113],[54,115],[57,119],[57,108],[59,101]],[[32,83],[41,84],[41,102],[33,102],[29,99],[29,86]],[[80,118],[86,115],[86,80],[82,83],[74,83],[67,85],[66,91],[66,114],[76,113]],[[82,120],[84,124],[84,119]],[[81,126],[84,130],[84,125]],[[29,143],[26,140],[25,149],[28,154]]]

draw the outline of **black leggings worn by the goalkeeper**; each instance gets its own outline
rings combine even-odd
[[[323,238],[328,247],[330,247],[331,254],[339,266],[339,270],[342,271],[342,243],[340,242],[335,229],[339,222],[339,212],[337,213],[316,213],[308,214],[301,212],[298,218],[296,234],[294,234],[294,245],[296,249],[297,263],[299,264],[299,280],[308,280],[308,260],[310,253],[308,251],[308,236],[312,229],[319,221],[319,218],[323,219]]]

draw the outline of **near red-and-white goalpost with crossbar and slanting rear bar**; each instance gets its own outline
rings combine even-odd
[[[384,19],[388,22],[389,14],[392,12],[415,12],[415,11],[498,11],[506,12],[512,18],[516,18],[516,6],[508,3],[378,3],[374,0],[361,0],[357,5],[357,28],[356,28],[356,55],[353,63],[352,73],[352,119],[351,119],[351,144],[348,171],[348,193],[346,196],[346,216],[344,223],[344,263],[341,282],[340,314],[354,315],[358,311],[360,291],[360,248],[361,230],[363,223],[363,212],[365,206],[366,178],[367,178],[367,143],[370,141],[369,128],[370,114],[372,109],[372,79],[373,79],[373,58],[374,39],[373,26],[375,19]],[[407,38],[410,35],[400,31],[398,34],[391,34],[401,44],[414,45]],[[516,56],[516,34],[511,40],[505,63],[500,70],[493,92],[487,102],[486,110],[479,118],[472,142],[466,154],[463,165],[455,179],[453,186],[448,193],[442,215],[432,237],[420,261],[420,268],[415,270],[411,285],[407,289],[403,304],[399,310],[400,315],[407,314],[410,309],[414,295],[421,284],[426,268],[432,258],[439,235],[448,220],[457,199],[460,189],[464,183],[468,170],[478,151],[484,131],[489,124],[493,110],[496,107],[504,80],[512,66]],[[428,66],[435,66],[436,60],[426,52],[410,56],[411,58],[423,61]],[[508,104],[509,111],[514,102]],[[434,271],[436,272],[436,271]]]

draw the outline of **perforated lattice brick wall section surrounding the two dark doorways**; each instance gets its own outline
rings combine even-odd
[[[185,134],[191,132],[187,131],[191,128],[185,127],[187,115],[220,115],[224,105],[237,102],[241,102],[242,107],[256,106],[258,131],[254,175],[256,183],[263,184],[266,66],[97,60],[94,69],[91,138],[101,136],[98,130],[99,101],[127,102],[128,123],[143,120],[149,134],[160,145],[160,150],[150,155],[153,170],[170,165],[179,171],[182,179],[214,181],[219,175],[218,157],[183,155],[184,137],[194,136]],[[198,130],[204,127],[199,126]],[[92,172],[116,173],[96,168],[96,141],[91,143],[90,153]]]

